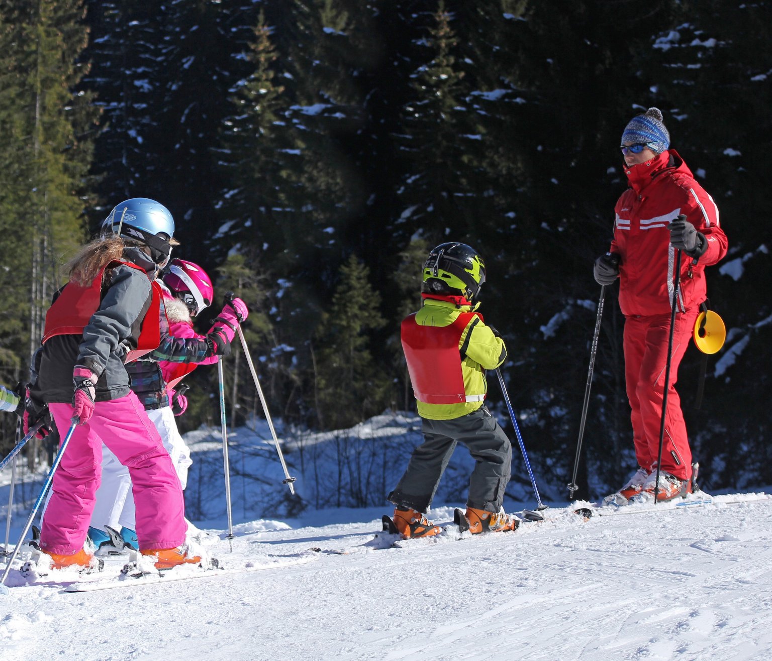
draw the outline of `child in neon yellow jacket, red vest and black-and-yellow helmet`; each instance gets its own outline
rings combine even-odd
[[[424,442],[413,451],[388,497],[395,505],[394,526],[405,537],[440,531],[425,513],[459,442],[476,460],[466,504],[469,531],[509,531],[518,524],[502,508],[512,446],[483,403],[483,369],[496,369],[506,359],[503,339],[476,312],[485,278],[485,264],[473,248],[462,243],[438,245],[424,265],[424,305],[401,325],[402,349],[424,433]]]

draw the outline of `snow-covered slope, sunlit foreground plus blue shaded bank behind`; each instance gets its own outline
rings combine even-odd
[[[253,571],[77,593],[64,592],[86,580],[77,575],[25,586],[12,571],[0,659],[772,659],[772,500],[589,521],[554,502],[550,520],[516,532],[457,539],[450,526],[388,548],[391,538],[375,538],[391,513],[384,494],[419,440],[417,422],[385,415],[327,434],[277,425],[297,498],[281,484],[267,427],[234,430],[232,541],[218,430],[188,434],[186,503],[210,535],[202,548],[225,569]],[[459,448],[436,522],[451,524],[470,467]],[[12,541],[39,484],[19,471]],[[507,494],[507,511],[535,505],[527,478]]]

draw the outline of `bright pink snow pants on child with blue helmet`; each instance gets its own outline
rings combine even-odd
[[[73,407],[51,403],[62,434]],[[40,531],[44,551],[72,554],[83,548],[102,472],[102,443],[129,469],[137,504],[141,549],[175,548],[185,542],[185,503],[171,457],[134,393],[97,402],[85,425],[75,428],[52,481],[52,494]]]

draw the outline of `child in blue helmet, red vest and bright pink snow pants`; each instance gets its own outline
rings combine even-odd
[[[52,568],[96,564],[83,544],[105,443],[131,475],[141,553],[155,556],[157,568],[198,563],[185,547],[180,481],[124,367],[158,346],[160,292],[152,282],[169,261],[174,219],[156,201],[135,197],[113,208],[106,224],[108,233],[69,262],[30,388],[63,435],[71,419],[77,423],[53,477],[40,548]]]

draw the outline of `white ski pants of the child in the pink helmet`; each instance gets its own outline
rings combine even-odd
[[[147,416],[161,435],[164,447],[171,457],[171,463],[174,464],[174,470],[177,471],[180,484],[185,489],[188,484],[188,467],[193,462],[190,457],[190,448],[185,445],[185,440],[177,429],[171,406],[147,410]],[[137,529],[129,471],[105,445],[102,446],[102,484],[97,489],[97,504],[91,516],[91,525],[102,529],[106,525],[115,530]]]

